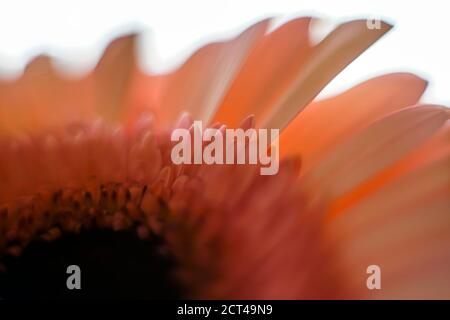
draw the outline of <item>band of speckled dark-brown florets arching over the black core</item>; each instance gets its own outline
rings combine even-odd
[[[17,256],[32,241],[89,229],[133,229],[147,238],[160,232],[165,212],[164,202],[146,185],[109,183],[40,192],[0,209],[0,250]]]

